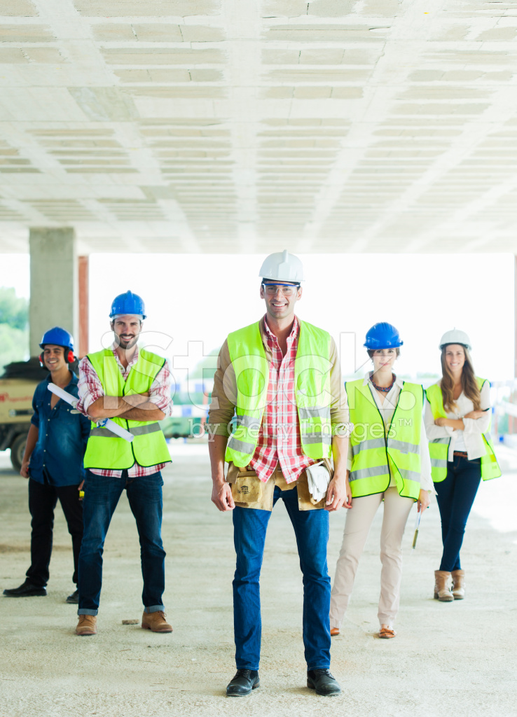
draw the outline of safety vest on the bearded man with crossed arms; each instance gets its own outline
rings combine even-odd
[[[165,359],[161,356],[141,348],[136,364],[131,366],[128,379],[124,381],[110,348],[89,353],[86,358],[95,369],[107,396],[146,393],[165,364]],[[135,461],[144,467],[170,462],[169,449],[157,421],[128,421],[123,418],[112,420],[131,432],[133,441],[115,436],[107,428],[98,427],[92,422],[85,453],[85,468],[124,470],[131,468]]]

